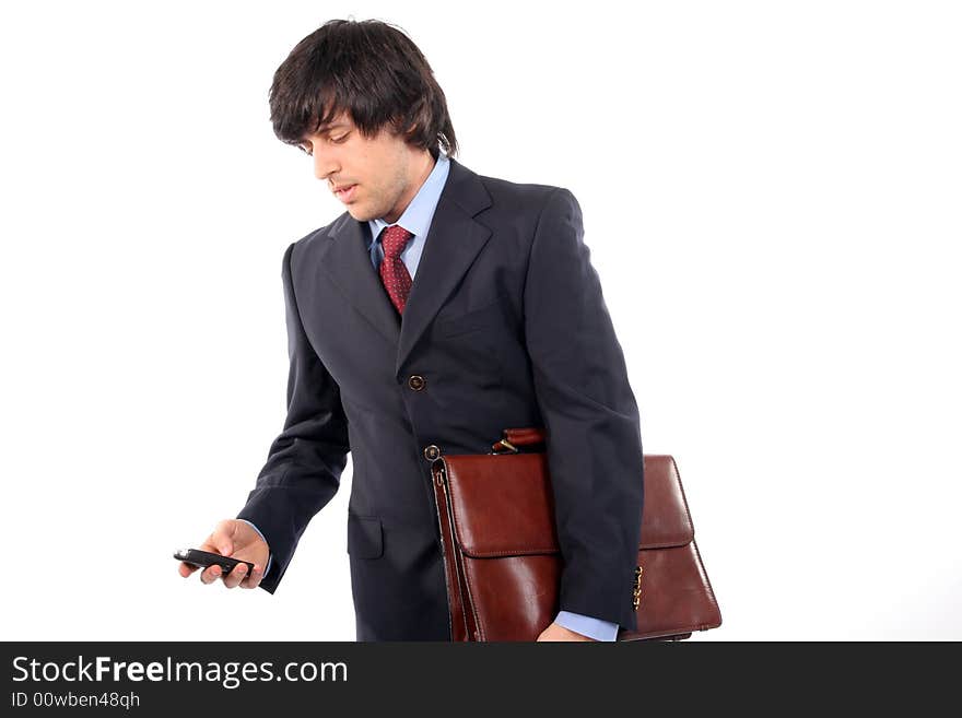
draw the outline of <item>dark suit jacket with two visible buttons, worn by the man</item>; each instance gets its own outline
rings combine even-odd
[[[543,426],[559,609],[634,628],[638,411],[574,196],[451,160],[403,321],[367,232],[345,212],[284,255],[288,416],[238,514],[270,544],[261,586],[277,589],[351,451],[357,639],[449,639],[431,460]]]

